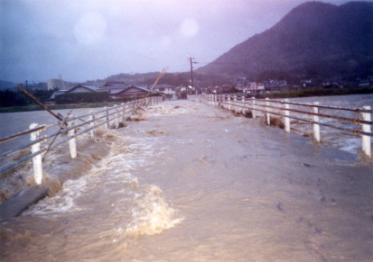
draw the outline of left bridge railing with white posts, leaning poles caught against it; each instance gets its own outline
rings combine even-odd
[[[0,153],[0,176],[6,171],[22,164],[23,162],[33,159],[33,175],[36,184],[42,184],[42,159],[45,154],[63,143],[69,141],[70,157],[77,157],[76,138],[85,133],[90,134],[90,139],[96,141],[96,129],[104,125],[106,129],[113,127],[118,128],[121,123],[126,122],[126,118],[135,114],[139,106],[148,106],[163,102],[162,96],[152,96],[141,100],[135,100],[126,104],[114,105],[105,107],[99,111],[90,111],[85,115],[72,116],[68,115],[63,122],[57,124],[45,125],[39,123],[31,123],[30,129],[21,131],[0,139],[0,143],[5,143],[10,140],[22,138],[30,135],[31,140],[21,145],[15,146],[13,149],[6,150]],[[58,129],[58,131],[55,131]],[[50,131],[46,135],[41,135],[42,131]],[[54,130],[54,131],[53,131]],[[62,133],[68,133],[66,138],[61,138]],[[56,140],[56,138],[59,138]],[[49,145],[42,147],[42,143],[49,141]],[[9,159],[12,155],[20,152],[22,149],[30,148],[31,153],[17,160]],[[3,164],[4,163],[4,164]]]

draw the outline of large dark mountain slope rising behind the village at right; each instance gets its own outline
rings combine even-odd
[[[197,71],[254,78],[373,75],[373,3],[299,5]]]

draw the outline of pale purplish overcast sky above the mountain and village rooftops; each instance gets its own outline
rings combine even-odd
[[[189,58],[204,66],[304,2],[0,0],[0,79],[45,82],[61,74],[82,82],[188,71]]]

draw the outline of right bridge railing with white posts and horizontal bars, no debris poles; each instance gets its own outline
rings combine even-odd
[[[271,115],[276,115],[284,118],[284,130],[290,132],[290,120],[297,122],[305,122],[313,125],[313,137],[318,142],[321,141],[320,126],[326,126],[332,129],[349,132],[352,135],[361,137],[361,149],[371,158],[371,106],[362,106],[361,108],[343,108],[333,107],[319,104],[292,103],[288,99],[283,101],[266,99],[256,99],[255,97],[246,98],[245,96],[237,95],[188,95],[188,99],[204,104],[221,106],[235,113],[242,113],[246,115],[251,113],[253,118],[258,116],[258,113],[264,113],[266,116],[266,124],[270,125]],[[290,107],[292,106],[292,108]],[[337,112],[337,114],[320,113],[320,110]],[[343,112],[343,113],[342,113]],[[291,114],[292,113],[292,114]],[[346,117],[343,114],[353,113],[359,117]],[[307,117],[304,117],[307,116]],[[331,119],[339,122],[339,125],[331,124],[329,122],[322,122],[322,119]],[[346,123],[352,123],[360,126],[357,128],[350,128]]]

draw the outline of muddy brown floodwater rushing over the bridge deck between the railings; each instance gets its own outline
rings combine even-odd
[[[372,96],[355,99],[337,105]],[[142,117],[0,225],[2,261],[373,260],[372,167],[355,149],[190,101]]]

